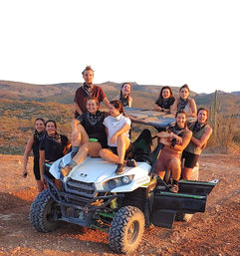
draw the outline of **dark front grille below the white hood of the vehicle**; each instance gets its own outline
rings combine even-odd
[[[87,197],[93,197],[96,193],[94,183],[85,183],[69,178],[66,182],[66,190],[81,194]]]

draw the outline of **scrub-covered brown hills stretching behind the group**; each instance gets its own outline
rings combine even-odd
[[[33,122],[37,117],[56,120],[59,131],[70,136],[70,123],[74,117],[73,99],[77,88],[81,85],[80,83],[32,85],[0,81],[0,153],[23,153],[24,145],[33,132]],[[118,83],[106,82],[100,86],[110,100],[120,93]],[[151,110],[160,89],[161,86],[132,83],[133,107]],[[179,88],[172,87],[172,90],[174,95],[178,95]],[[212,109],[214,94],[197,95],[191,92],[191,96],[194,97],[198,107]],[[219,126],[221,127],[221,124],[229,126],[222,132],[225,134],[227,130],[231,133],[231,137],[240,143],[240,95],[221,92],[218,95],[217,113]]]

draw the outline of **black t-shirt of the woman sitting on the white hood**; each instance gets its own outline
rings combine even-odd
[[[77,118],[86,129],[89,137],[98,138],[102,146],[107,145],[107,135],[103,125],[106,117],[107,113],[98,111],[95,115],[86,112]]]

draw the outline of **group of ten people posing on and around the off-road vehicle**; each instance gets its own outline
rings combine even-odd
[[[134,159],[126,157],[132,150],[129,137],[131,121],[124,116],[123,109],[132,106],[131,84],[124,83],[120,88],[120,95],[109,101],[103,89],[93,84],[94,70],[87,66],[83,71],[85,83],[76,91],[75,119],[72,122],[72,160],[60,171],[67,176],[71,169],[84,161],[87,155],[98,157],[117,163],[116,173],[124,172],[124,166],[136,166]],[[100,111],[101,102],[108,112]],[[172,171],[172,192],[178,191],[178,180],[181,175],[181,157],[185,158],[182,177],[190,178],[199,154],[203,150],[211,135],[212,129],[207,125],[208,111],[196,110],[196,104],[189,97],[189,88],[184,85],[179,90],[179,98],[174,98],[169,87],[163,87],[158,100],[153,107],[154,111],[175,114],[174,128],[157,133],[159,142],[164,144],[157,159],[155,172],[161,178],[166,169]],[[187,117],[197,117],[197,121],[187,128]],[[70,149],[71,142],[67,136],[57,132],[54,121],[42,119],[35,121],[35,132],[28,140],[23,164],[23,175],[27,175],[28,157],[33,149],[34,174],[38,190],[46,188],[44,173],[51,179],[49,164],[62,157]],[[55,180],[58,189],[62,189],[62,182]]]

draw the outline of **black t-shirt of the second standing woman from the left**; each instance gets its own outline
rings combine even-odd
[[[39,149],[45,150],[45,159],[47,161],[56,161],[67,152],[69,139],[66,135],[60,134],[59,136],[60,139],[57,139],[46,134],[40,141]]]

